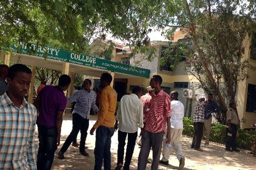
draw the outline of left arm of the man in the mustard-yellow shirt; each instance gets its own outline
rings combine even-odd
[[[102,125],[102,123],[105,121],[106,116],[108,114],[108,93],[106,91],[102,91],[101,97],[100,97],[100,105],[101,110],[99,110],[98,119],[96,123],[93,125],[93,127],[90,130],[90,134],[93,135],[94,131]]]

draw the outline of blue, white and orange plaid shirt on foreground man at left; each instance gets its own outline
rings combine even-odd
[[[36,170],[36,108],[23,99],[17,108],[6,93],[0,96],[0,169]]]

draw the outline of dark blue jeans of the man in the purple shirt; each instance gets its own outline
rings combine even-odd
[[[38,170],[50,170],[57,149],[57,129],[51,126],[38,125],[39,149]]]

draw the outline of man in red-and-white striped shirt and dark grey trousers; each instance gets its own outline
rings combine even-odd
[[[170,96],[161,88],[162,77],[154,75],[150,80],[150,85],[155,91],[152,93],[150,110],[147,114],[145,130],[142,134],[142,143],[139,154],[138,170],[145,170],[148,155],[152,147],[153,161],[151,170],[157,170],[161,146],[163,142],[163,134],[166,131],[166,143],[170,143],[170,117],[171,117],[171,99]]]

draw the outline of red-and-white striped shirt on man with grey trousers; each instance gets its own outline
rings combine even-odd
[[[151,133],[165,132],[166,118],[171,117],[171,98],[163,90],[157,95],[153,93],[151,96],[145,130]]]

